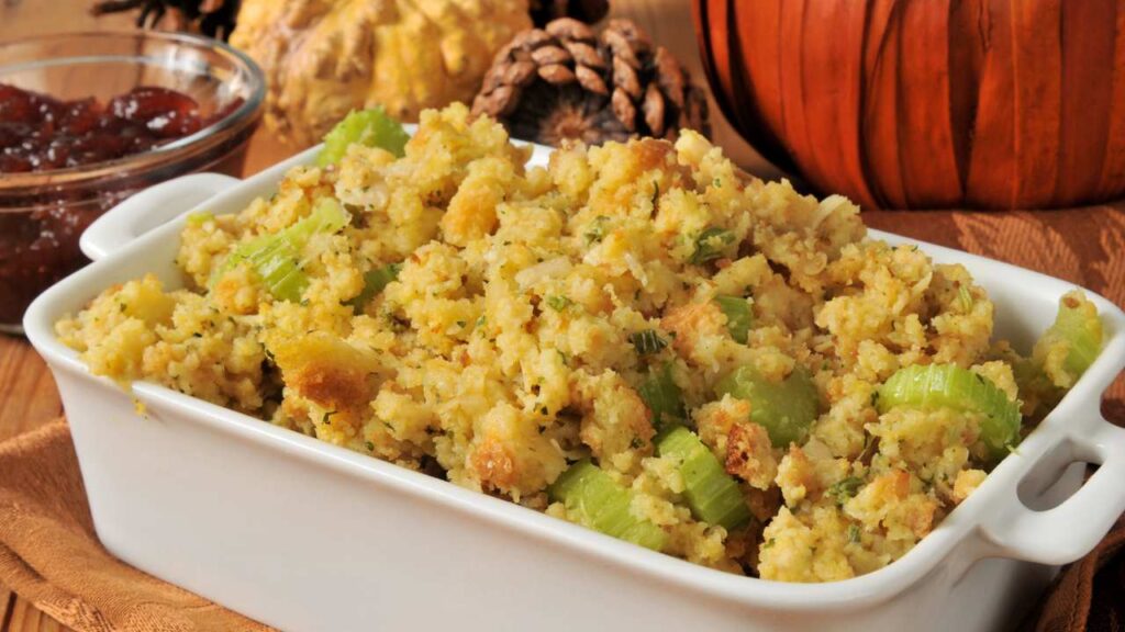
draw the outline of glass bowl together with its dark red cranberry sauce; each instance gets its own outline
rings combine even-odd
[[[261,70],[206,37],[78,33],[0,44],[0,331],[84,265],[82,231],[152,184],[240,175]]]

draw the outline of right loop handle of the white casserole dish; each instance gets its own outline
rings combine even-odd
[[[1099,415],[1100,418],[1100,415]],[[1125,511],[1125,428],[1104,418],[1090,432],[1070,437],[1071,462],[1099,464],[1098,471],[1056,507],[1028,508],[1018,498],[1000,505],[982,524],[996,557],[1060,566],[1089,553]]]

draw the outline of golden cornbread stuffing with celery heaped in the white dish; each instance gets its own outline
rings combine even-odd
[[[784,581],[907,553],[1084,370],[1073,327],[993,344],[964,268],[699,134],[529,155],[425,111],[403,157],[353,144],[188,217],[182,279],[109,288],[57,334],[122,383]]]

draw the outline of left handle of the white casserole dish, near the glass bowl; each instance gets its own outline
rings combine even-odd
[[[241,182],[220,173],[191,173],[161,182],[109,209],[82,233],[79,247],[93,261]]]

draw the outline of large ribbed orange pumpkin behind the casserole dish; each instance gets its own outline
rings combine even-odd
[[[821,191],[883,208],[1125,193],[1125,0],[693,0],[716,100]]]

